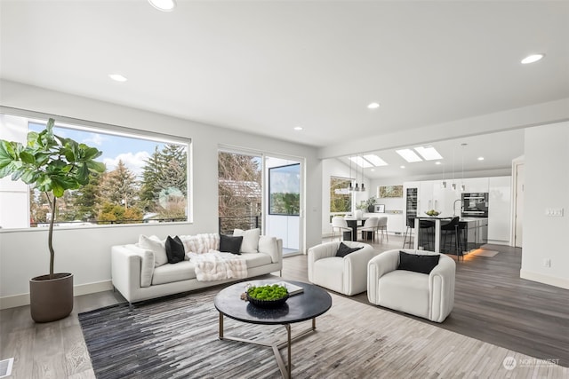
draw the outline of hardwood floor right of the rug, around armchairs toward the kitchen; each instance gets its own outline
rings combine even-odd
[[[373,248],[400,249],[402,244],[401,238],[389,236],[389,242],[373,243]],[[443,323],[406,316],[538,359],[558,359],[559,365],[569,367],[569,290],[520,279],[521,249],[501,245],[484,249],[499,253],[469,255],[457,263],[454,308]],[[308,281],[306,256],[285,262],[284,278]],[[376,306],[369,303],[366,292],[349,297]]]

